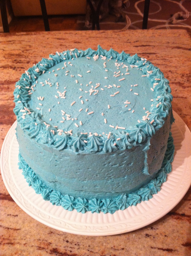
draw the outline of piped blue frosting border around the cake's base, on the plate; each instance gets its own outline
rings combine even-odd
[[[38,178],[35,172],[25,162],[24,158],[19,154],[19,169],[22,169],[29,186],[35,189],[37,194],[41,194],[44,200],[50,200],[50,202],[57,206],[62,206],[68,211],[76,209],[78,212],[85,213],[91,211],[92,213],[111,213],[113,214],[118,209],[124,210],[129,206],[136,206],[141,201],[148,201],[152,198],[153,194],[158,193],[161,189],[161,185],[166,181],[167,174],[171,172],[171,162],[173,161],[174,145],[171,133],[168,138],[167,150],[162,162],[162,167],[154,179],[152,179],[147,185],[139,188],[137,191],[129,194],[120,194],[114,198],[93,198],[88,200],[86,198],[74,198],[70,195],[63,195],[59,191],[52,190],[47,187],[42,180]]]

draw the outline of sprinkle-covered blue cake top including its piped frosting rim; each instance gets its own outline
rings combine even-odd
[[[52,146],[62,140],[59,149],[105,152],[152,136],[172,100],[168,80],[149,61],[100,46],[43,58],[25,71],[14,96],[17,120],[29,136]],[[90,149],[92,137],[97,145],[91,142]]]

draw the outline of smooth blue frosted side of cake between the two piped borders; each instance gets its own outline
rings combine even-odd
[[[155,178],[161,168],[170,130],[170,115],[142,145],[111,153],[76,153],[40,145],[17,125],[19,151],[43,183],[75,198],[113,198],[131,193]]]

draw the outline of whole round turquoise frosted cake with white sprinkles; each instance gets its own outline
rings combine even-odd
[[[152,198],[171,171],[169,81],[137,54],[71,49],[14,91],[19,168],[44,200],[114,213]]]

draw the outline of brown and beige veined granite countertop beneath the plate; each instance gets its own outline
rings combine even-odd
[[[191,40],[186,30],[56,31],[0,34],[0,145],[16,120],[13,90],[22,73],[49,53],[78,48],[137,53],[170,81],[174,111],[191,130]],[[191,189],[158,221],[112,236],[82,236],[45,226],[11,198],[0,176],[0,255],[191,255]]]

